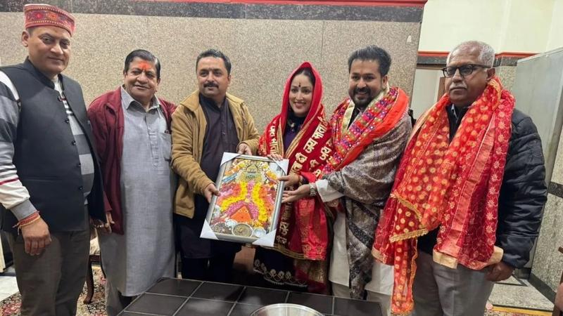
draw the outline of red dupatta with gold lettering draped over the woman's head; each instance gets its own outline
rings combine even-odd
[[[284,130],[289,112],[289,89],[293,74],[304,67],[315,76],[311,107],[301,130],[284,151]],[[281,154],[289,159],[289,172],[297,173],[312,183],[320,176],[332,152],[331,129],[324,119],[321,104],[322,81],[309,62],[303,62],[289,76],[284,91],[281,113],[266,126],[260,137],[258,153]],[[303,198],[291,204],[282,204],[274,247],[283,254],[297,259],[325,260],[329,246],[329,213],[318,198]]]

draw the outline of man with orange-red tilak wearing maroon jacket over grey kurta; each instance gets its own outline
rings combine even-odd
[[[88,107],[110,223],[98,230],[109,316],[161,277],[174,276],[170,119],[175,105],[156,97],[158,84],[160,61],[137,49],[125,58],[123,85]]]

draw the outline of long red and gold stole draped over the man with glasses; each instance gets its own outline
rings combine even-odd
[[[451,143],[448,105],[444,95],[417,122],[376,231],[372,254],[395,267],[393,314],[414,306],[417,237],[440,227],[434,261],[450,268],[479,270],[502,258],[494,245],[514,97],[491,79]]]

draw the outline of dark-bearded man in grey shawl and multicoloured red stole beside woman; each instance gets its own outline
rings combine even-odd
[[[371,249],[381,209],[411,131],[408,97],[388,86],[391,57],[368,46],[348,59],[350,98],[331,117],[335,147],[322,180],[302,185],[290,197],[316,190],[324,202],[340,202],[334,224],[329,280],[335,296],[391,301],[393,270],[374,264]]]

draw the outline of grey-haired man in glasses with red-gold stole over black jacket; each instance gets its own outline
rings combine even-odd
[[[395,267],[397,314],[414,296],[416,316],[483,315],[493,282],[529,259],[546,199],[543,154],[494,58],[478,41],[450,53],[446,94],[405,150],[373,250]]]

